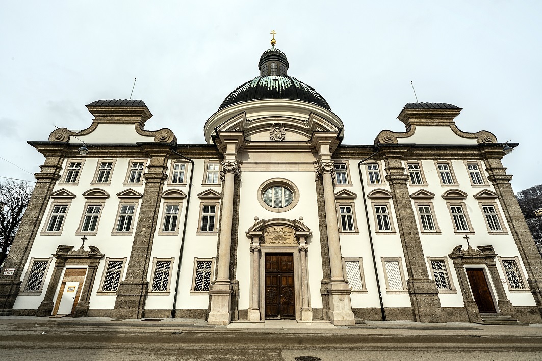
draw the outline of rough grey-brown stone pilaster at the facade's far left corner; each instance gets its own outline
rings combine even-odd
[[[28,260],[30,249],[34,244],[41,221],[49,202],[49,196],[57,180],[60,179],[65,146],[50,145],[47,149],[38,149],[46,156],[41,171],[35,173],[36,186],[24,212],[21,224],[11,245],[5,268],[15,268],[13,275],[0,275],[0,316],[11,314],[15,299],[21,288],[24,265]]]

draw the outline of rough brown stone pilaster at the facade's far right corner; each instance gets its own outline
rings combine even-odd
[[[518,200],[515,198],[510,184],[512,175],[506,174],[506,168],[502,166],[502,156],[501,149],[486,150],[484,162],[489,174],[488,179],[493,183],[495,193],[499,195],[502,212],[527,271],[527,283],[531,288],[538,312],[542,315],[542,258],[519,208]]]

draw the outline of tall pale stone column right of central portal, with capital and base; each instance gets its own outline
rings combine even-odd
[[[330,310],[328,318],[334,325],[354,325],[354,313],[350,301],[350,287],[343,275],[343,263],[340,253],[339,224],[335,194],[333,192],[333,176],[335,163],[331,161],[320,162],[317,173],[324,186],[324,205],[326,209],[327,242],[330,250],[331,280],[328,288]]]

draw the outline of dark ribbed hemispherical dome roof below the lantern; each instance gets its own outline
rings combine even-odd
[[[224,99],[218,109],[256,99],[300,100],[331,110],[326,100],[313,87],[294,77],[279,75],[257,76],[241,84]]]

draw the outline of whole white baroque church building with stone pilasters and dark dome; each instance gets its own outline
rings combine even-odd
[[[542,259],[492,133],[408,103],[404,133],[343,145],[274,39],[258,65],[204,145],[146,130],[139,100],[93,102],[87,129],[29,141],[45,161],[0,314],[542,323]]]

